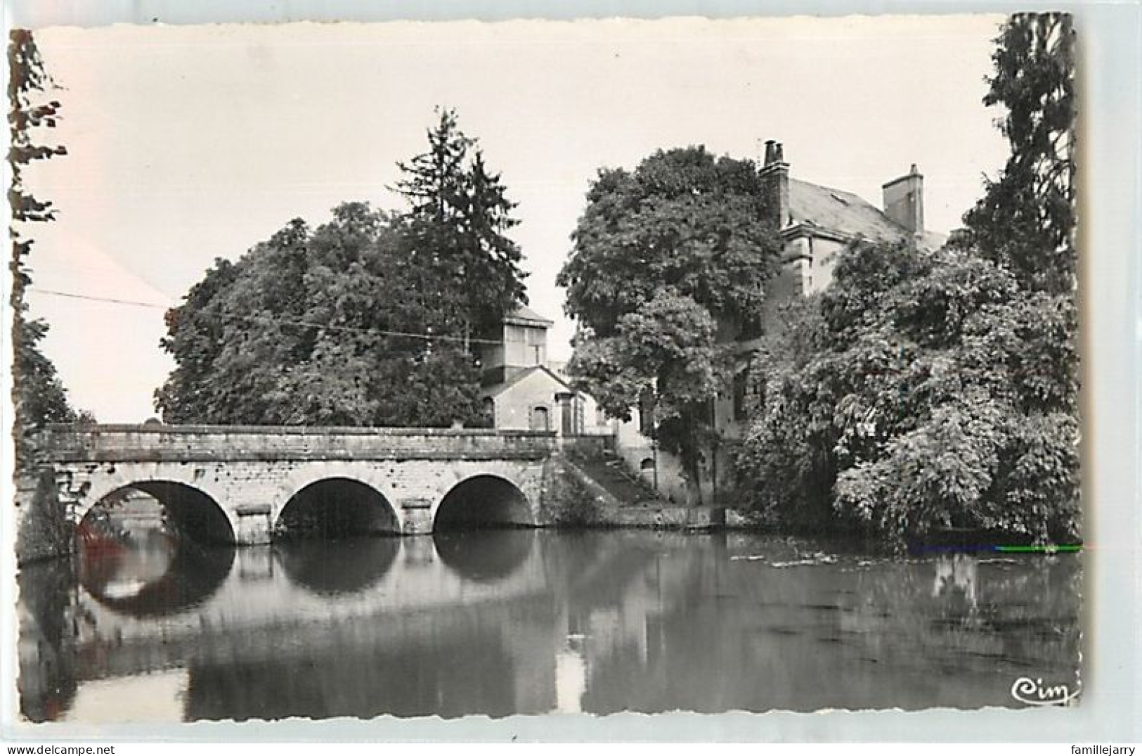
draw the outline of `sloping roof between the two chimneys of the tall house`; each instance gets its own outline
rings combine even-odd
[[[876,206],[852,192],[789,178],[789,215],[793,225],[820,228],[842,238],[870,241],[906,239],[909,231]]]

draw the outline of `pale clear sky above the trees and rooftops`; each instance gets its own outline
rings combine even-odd
[[[69,155],[29,172],[59,219],[34,226],[33,285],[177,304],[216,257],[349,200],[397,209],[396,161],[458,111],[518,202],[531,306],[572,325],[554,279],[600,167],[706,145],[880,204],[917,163],[948,232],[1006,145],[984,108],[999,16],[754,21],[432,22],[40,30],[64,88]],[[154,415],[174,367],[162,308],[43,293],[45,351],[100,421]]]

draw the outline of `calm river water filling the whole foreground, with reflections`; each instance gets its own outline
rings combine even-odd
[[[233,549],[154,531],[22,571],[21,707],[89,723],[1019,707],[1080,685],[1080,558],[740,532]]]

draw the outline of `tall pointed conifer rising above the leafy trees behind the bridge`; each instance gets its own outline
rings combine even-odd
[[[436,112],[428,151],[399,163],[396,188],[410,204],[403,233],[410,255],[433,273],[432,305],[447,313],[444,329],[485,333],[526,301],[520,248],[506,235],[518,224],[515,203],[476,140],[459,130],[456,112]]]

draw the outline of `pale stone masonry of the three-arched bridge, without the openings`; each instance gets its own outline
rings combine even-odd
[[[510,483],[544,525],[555,466],[554,433],[435,428],[278,426],[51,426],[45,463],[67,517],[128,486],[175,484],[209,497],[234,541],[271,540],[290,499],[308,485],[348,480],[388,502],[399,532],[432,532],[457,485],[477,476]],[[203,505],[204,506],[204,505]]]

